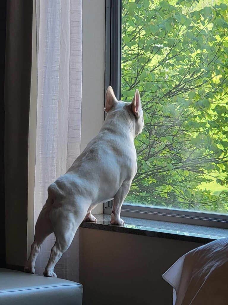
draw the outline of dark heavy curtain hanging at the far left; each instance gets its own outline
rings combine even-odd
[[[7,1],[4,92],[5,237],[8,266],[23,266],[27,253],[32,16],[31,0]]]

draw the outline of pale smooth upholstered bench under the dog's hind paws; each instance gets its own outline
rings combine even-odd
[[[81,284],[0,268],[1,305],[82,305]]]

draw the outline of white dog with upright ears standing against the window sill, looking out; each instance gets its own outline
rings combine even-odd
[[[36,222],[34,242],[24,271],[35,273],[36,257],[44,239],[54,232],[56,242],[44,271],[57,277],[54,267],[69,248],[83,220],[96,221],[91,210],[114,199],[111,224],[124,225],[120,209],[137,171],[134,137],[143,129],[139,91],[131,103],[118,101],[109,86],[104,124],[66,174],[48,187],[48,199]]]

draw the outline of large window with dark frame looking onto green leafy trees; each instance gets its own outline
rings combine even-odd
[[[106,6],[106,84],[138,88],[145,122],[122,210],[227,226],[228,0]]]

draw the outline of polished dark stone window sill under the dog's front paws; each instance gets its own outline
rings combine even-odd
[[[80,227],[157,238],[199,242],[202,244],[228,236],[228,229],[181,224],[168,221],[139,219],[133,217],[122,217],[125,225],[113,226],[110,225],[109,215],[97,214],[95,217],[97,218],[97,223],[83,221]]]

